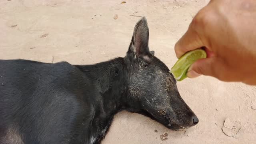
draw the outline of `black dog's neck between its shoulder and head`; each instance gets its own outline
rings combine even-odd
[[[76,67],[89,76],[99,90],[96,109],[101,109],[100,117],[114,115],[125,107],[128,80],[124,58],[92,65],[76,65]]]

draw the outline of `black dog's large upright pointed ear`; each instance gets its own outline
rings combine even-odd
[[[131,60],[140,58],[144,62],[150,64],[153,54],[150,53],[148,48],[148,37],[148,23],[146,18],[142,17],[134,27],[132,41],[126,54],[126,58],[130,58]]]

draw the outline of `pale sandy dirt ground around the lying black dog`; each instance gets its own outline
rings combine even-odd
[[[94,64],[125,56],[137,16],[146,16],[150,50],[171,68],[175,42],[208,3],[125,1],[0,0],[0,59]],[[175,132],[145,116],[120,112],[102,144],[256,143],[256,87],[201,76],[178,82],[178,89],[198,125]]]

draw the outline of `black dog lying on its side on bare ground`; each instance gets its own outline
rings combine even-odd
[[[0,60],[1,144],[98,144],[120,110],[177,130],[198,123],[138,21],[124,58],[94,65]]]

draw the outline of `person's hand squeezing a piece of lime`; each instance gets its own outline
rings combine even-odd
[[[175,45],[177,58],[204,47],[187,76],[256,85],[256,0],[211,0]]]

